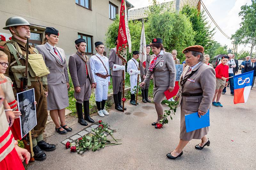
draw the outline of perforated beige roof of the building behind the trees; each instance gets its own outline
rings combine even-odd
[[[127,2],[127,1],[126,1]],[[175,11],[176,8],[176,0],[171,0],[169,2],[165,2],[162,4],[167,4],[168,6],[172,6],[173,12]],[[196,7],[198,4],[198,0],[180,0],[180,8],[182,8],[184,5],[188,4],[189,6]],[[161,4],[158,4],[161,5]],[[128,20],[136,20],[136,19],[141,19],[141,18],[147,18],[147,11],[149,10],[149,7],[144,7],[144,8],[139,8],[135,10],[129,10],[128,12]]]

